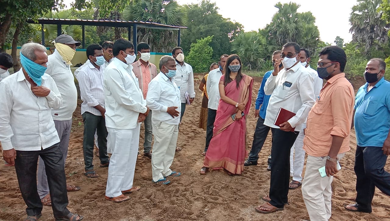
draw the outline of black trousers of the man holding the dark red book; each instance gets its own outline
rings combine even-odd
[[[273,130],[272,166],[269,198],[271,205],[283,208],[287,203],[290,182],[290,150],[299,132],[285,132],[280,129]]]

